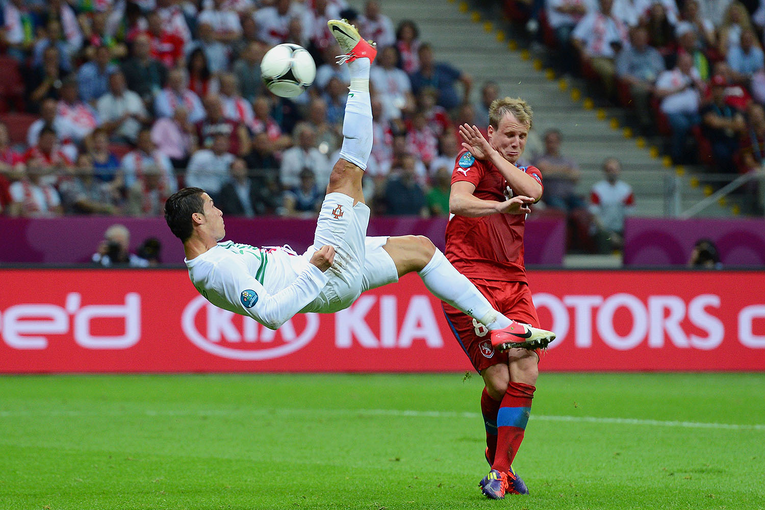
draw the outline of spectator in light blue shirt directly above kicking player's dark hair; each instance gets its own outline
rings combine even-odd
[[[229,135],[213,135],[209,149],[200,148],[191,155],[186,171],[186,186],[196,186],[217,199],[223,184],[229,180],[229,167],[236,157],[229,152]]]

